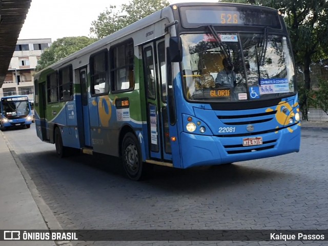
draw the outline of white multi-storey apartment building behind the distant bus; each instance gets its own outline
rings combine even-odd
[[[50,44],[50,38],[17,40],[6,78],[0,88],[0,97],[27,95],[33,100],[33,78],[37,60]]]

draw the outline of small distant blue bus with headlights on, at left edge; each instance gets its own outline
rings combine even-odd
[[[7,96],[0,100],[0,128],[26,126],[32,124],[32,111],[27,96]]]

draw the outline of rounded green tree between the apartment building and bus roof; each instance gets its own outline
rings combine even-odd
[[[59,61],[89,44],[95,42],[95,38],[81,37],[63,37],[54,41],[50,48],[45,50],[37,61],[35,71],[40,71],[47,66]]]

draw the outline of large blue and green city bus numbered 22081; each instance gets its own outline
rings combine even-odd
[[[217,83],[226,59],[233,83]],[[230,3],[157,11],[35,75],[37,136],[150,165],[190,168],[300,147],[295,64],[280,12]]]

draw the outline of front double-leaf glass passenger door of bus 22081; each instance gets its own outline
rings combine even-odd
[[[143,47],[149,151],[152,159],[172,162],[166,79],[165,40]]]

